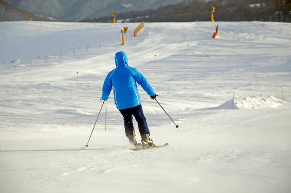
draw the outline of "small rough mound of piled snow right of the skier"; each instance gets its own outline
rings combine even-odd
[[[274,96],[246,96],[234,97],[228,100],[217,109],[271,109],[285,103],[283,100]]]

